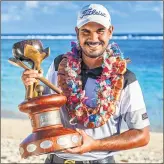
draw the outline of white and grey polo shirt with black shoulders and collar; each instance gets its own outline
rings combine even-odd
[[[54,62],[51,64],[46,78],[57,86],[57,72],[58,64],[60,63],[62,56],[58,56]],[[95,107],[95,87],[96,87],[96,77],[101,74],[102,68],[95,68],[92,70],[87,70],[86,66],[82,66],[82,81],[83,87],[88,97],[86,104],[90,107]],[[147,117],[146,107],[142,95],[142,91],[134,73],[127,70],[124,74],[124,88],[121,91],[120,100],[116,105],[116,112],[112,115],[109,120],[101,127],[88,129],[81,124],[71,125],[69,123],[68,113],[63,106],[60,110],[60,116],[64,127],[67,128],[79,128],[84,129],[84,131],[94,139],[103,139],[110,137],[112,135],[120,134],[120,128],[122,121],[124,120],[129,129],[142,129],[149,126],[149,119]],[[49,88],[45,89],[46,93],[54,93]],[[87,152],[82,155],[70,154],[64,152],[55,152],[57,156],[64,159],[72,159],[76,161],[84,160],[98,160],[106,158],[107,156],[112,156],[116,152],[113,151],[95,151]]]

